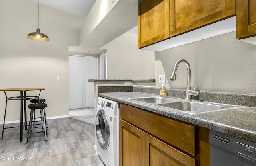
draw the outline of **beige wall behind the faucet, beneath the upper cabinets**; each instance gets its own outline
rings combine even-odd
[[[238,41],[236,32],[156,52],[156,78],[166,74],[166,88],[186,88],[184,63],[178,66],[176,81],[169,80],[181,58],[190,64],[192,88],[256,93],[256,45]]]

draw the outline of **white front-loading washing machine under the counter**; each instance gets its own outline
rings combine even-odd
[[[119,103],[98,98],[95,120],[96,148],[106,166],[119,166]]]

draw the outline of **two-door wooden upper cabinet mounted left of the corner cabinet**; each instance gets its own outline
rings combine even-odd
[[[256,22],[256,0],[237,0],[248,24]],[[249,1],[249,2],[248,2]],[[249,3],[248,14],[244,13]],[[138,48],[236,15],[236,0],[138,0]],[[255,27],[253,27],[255,29]],[[254,29],[248,31],[253,31]],[[243,30],[245,31],[245,30]],[[254,30],[255,34],[255,30]]]

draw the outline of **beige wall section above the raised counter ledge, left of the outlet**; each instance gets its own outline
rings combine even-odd
[[[106,44],[108,79],[149,79],[155,77],[154,51],[137,49],[137,35],[126,32]]]

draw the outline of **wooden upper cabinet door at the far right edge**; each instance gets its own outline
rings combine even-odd
[[[256,0],[236,1],[236,38],[256,36]]]

